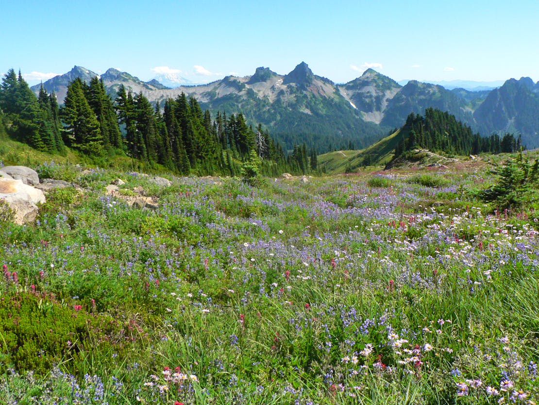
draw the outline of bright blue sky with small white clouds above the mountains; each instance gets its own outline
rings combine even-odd
[[[305,61],[344,83],[539,80],[539,0],[0,0],[0,73],[30,84],[74,65],[197,83],[285,74]]]

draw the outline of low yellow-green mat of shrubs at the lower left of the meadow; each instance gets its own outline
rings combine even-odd
[[[63,363],[76,370],[83,350],[120,349],[124,343],[115,336],[119,332],[118,323],[87,308],[60,303],[45,293],[12,291],[0,297],[0,369],[43,375]]]

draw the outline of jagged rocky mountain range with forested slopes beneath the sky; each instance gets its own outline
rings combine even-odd
[[[55,91],[61,104],[68,83],[76,77],[88,82],[93,76],[99,75],[74,66],[43,86],[47,92]],[[401,85],[368,69],[361,77],[336,84],[315,75],[305,62],[287,75],[261,67],[252,76],[227,76],[209,84],[172,89],[156,79],[143,82],[116,69],[108,69],[100,77],[113,98],[123,84],[127,90],[142,92],[154,104],[163,105],[164,100],[183,92],[195,97],[212,116],[217,111],[241,112],[248,123],[261,123],[287,149],[303,142],[319,151],[350,144],[365,147],[402,126],[411,112],[422,114],[427,107],[450,112],[483,136],[509,131],[521,134],[529,148],[539,146],[539,82],[530,78],[509,79],[492,90],[448,90],[417,80]],[[37,93],[39,87],[32,90]]]

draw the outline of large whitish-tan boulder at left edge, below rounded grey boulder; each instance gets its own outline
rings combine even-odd
[[[0,178],[0,199],[15,211],[15,223],[27,224],[36,219],[38,207],[36,204],[45,203],[45,194],[22,180]]]

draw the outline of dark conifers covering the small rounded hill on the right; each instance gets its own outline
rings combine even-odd
[[[457,155],[515,152],[522,149],[520,136],[515,138],[513,134],[506,133],[503,137],[498,134],[481,137],[452,114],[432,108],[425,110],[425,117],[411,113],[401,133],[395,158],[417,148]]]

